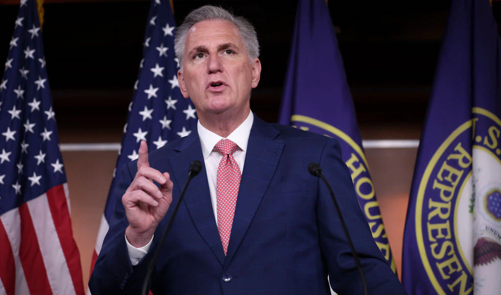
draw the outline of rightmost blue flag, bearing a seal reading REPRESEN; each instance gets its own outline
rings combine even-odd
[[[488,0],[453,0],[404,232],[409,294],[501,294],[501,47]]]

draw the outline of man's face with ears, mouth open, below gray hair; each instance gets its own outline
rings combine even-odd
[[[191,98],[199,117],[247,113],[250,89],[258,86],[260,74],[261,62],[250,61],[231,22],[203,21],[189,30],[183,71],[177,76],[181,93]]]

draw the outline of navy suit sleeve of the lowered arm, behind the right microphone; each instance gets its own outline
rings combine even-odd
[[[320,165],[331,184],[341,214],[365,273],[369,294],[405,294],[397,276],[387,264],[372,237],[369,225],[358,204],[348,167],[341,149],[329,139],[322,151]],[[319,178],[317,222],[320,247],[329,271],[333,290],[340,294],[363,294],[355,260],[337,215],[327,186]]]

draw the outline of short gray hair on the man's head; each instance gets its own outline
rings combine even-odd
[[[254,26],[249,21],[242,17],[235,17],[232,13],[220,7],[205,5],[190,12],[181,26],[177,27],[174,39],[174,51],[179,60],[181,70],[184,64],[184,46],[189,29],[199,22],[208,20],[225,20],[233,23],[240,32],[242,43],[247,50],[250,60],[252,61],[254,58],[259,57],[258,34],[256,34]]]

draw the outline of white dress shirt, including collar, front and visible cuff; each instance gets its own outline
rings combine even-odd
[[[235,158],[238,168],[240,168],[240,173],[243,171],[243,162],[245,161],[245,153],[247,151],[247,142],[249,140],[250,128],[254,122],[254,115],[249,112],[247,118],[231,132],[226,139],[231,140],[236,143],[238,149],[233,152],[233,158]],[[209,131],[207,128],[203,127],[198,121],[197,124],[198,137],[200,138],[200,143],[202,146],[203,161],[205,163],[205,170],[207,172],[207,181],[209,184],[210,201],[212,203],[212,211],[214,212],[214,218],[217,224],[217,195],[216,195],[216,184],[217,184],[217,168],[219,167],[219,162],[222,159],[222,155],[214,150],[214,146],[223,137]],[[148,249],[151,246],[153,238],[143,247],[136,248],[129,243],[127,238],[125,242],[127,243],[127,250],[129,252],[129,258],[132,265],[137,265],[139,261],[148,253]]]

